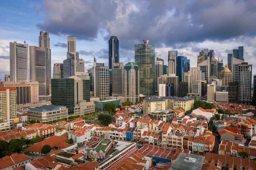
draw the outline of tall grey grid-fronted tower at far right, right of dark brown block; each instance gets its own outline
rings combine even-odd
[[[247,62],[239,65],[239,103],[250,105],[252,87],[252,65]]]

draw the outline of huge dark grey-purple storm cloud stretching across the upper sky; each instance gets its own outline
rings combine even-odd
[[[145,39],[157,46],[182,46],[256,35],[255,0],[44,0],[43,5],[46,17],[39,28],[83,40],[95,40],[103,29],[105,40],[115,35],[125,49]]]

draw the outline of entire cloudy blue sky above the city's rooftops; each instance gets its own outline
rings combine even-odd
[[[134,45],[149,40],[156,57],[168,51],[190,59],[209,48],[227,62],[244,46],[245,62],[256,74],[256,0],[0,0],[0,79],[9,74],[9,42],[38,46],[50,35],[52,65],[66,58],[67,36],[76,36],[79,57],[90,68],[93,55],[108,65],[108,39],[119,39],[120,62],[134,61]]]

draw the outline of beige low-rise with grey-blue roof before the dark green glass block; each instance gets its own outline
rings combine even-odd
[[[44,105],[39,108],[30,108],[28,111],[28,119],[42,123],[58,119],[67,119],[68,109],[66,106]]]

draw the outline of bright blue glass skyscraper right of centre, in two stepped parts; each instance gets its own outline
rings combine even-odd
[[[179,82],[183,82],[183,72],[189,72],[190,60],[184,56],[177,57],[176,75],[179,77]]]

